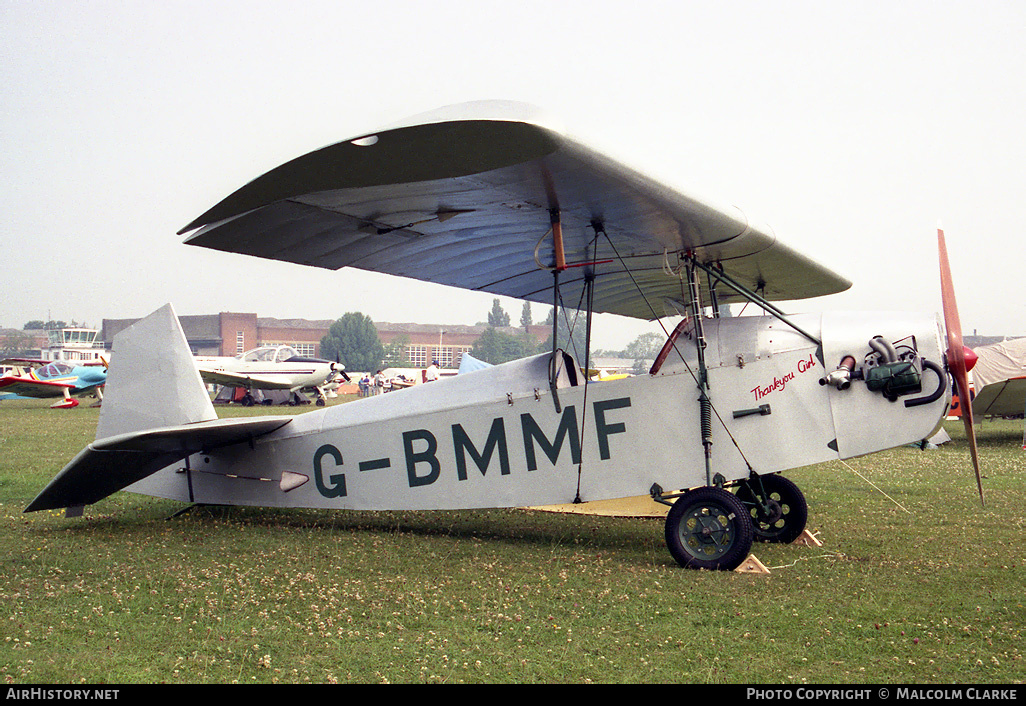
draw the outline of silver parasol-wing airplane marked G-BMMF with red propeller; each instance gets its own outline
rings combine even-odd
[[[678,563],[733,570],[753,540],[803,532],[805,500],[782,471],[930,437],[948,369],[965,375],[953,300],[947,347],[935,314],[789,316],[773,302],[851,283],[519,104],[441,109],[317,150],[186,232],[191,245],[568,306],[589,332],[593,312],[683,318],[647,375],[587,384],[590,353],[576,359],[554,336],[550,352],[401,395],[218,420],[166,306],[116,342],[96,440],[27,511],[122,488],[367,510],[648,496],[670,505]],[[766,314],[716,315],[749,301]],[[132,381],[157,365],[176,374],[144,396]]]

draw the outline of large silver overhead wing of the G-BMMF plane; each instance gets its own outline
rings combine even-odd
[[[595,311],[675,313],[664,300],[683,299],[674,271],[685,251],[768,300],[851,286],[740,210],[676,191],[536,109],[502,102],[441,109],[311,152],[243,186],[181,233],[196,231],[191,245],[552,304],[556,213],[567,266],[559,285],[569,306],[593,278]],[[741,301],[725,287],[717,295]]]

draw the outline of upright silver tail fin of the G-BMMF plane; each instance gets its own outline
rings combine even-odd
[[[170,304],[114,337],[96,439],[218,419]]]

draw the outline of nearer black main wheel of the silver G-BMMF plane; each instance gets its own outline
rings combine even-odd
[[[726,491],[697,487],[667,513],[666,546],[685,568],[734,571],[752,549],[750,517]]]

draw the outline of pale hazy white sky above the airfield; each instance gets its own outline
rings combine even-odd
[[[176,232],[307,152],[502,99],[854,282],[789,312],[939,312],[941,226],[963,332],[1026,336],[1024,30],[1021,0],[0,0],[0,327],[483,321],[490,295]],[[598,348],[658,330],[597,319]]]

